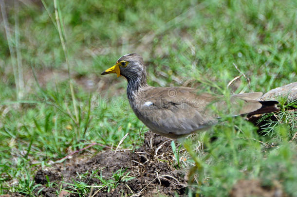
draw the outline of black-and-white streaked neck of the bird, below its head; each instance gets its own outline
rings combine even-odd
[[[127,96],[129,100],[134,100],[134,96],[137,94],[137,92],[148,86],[146,75],[127,77],[127,80]]]

